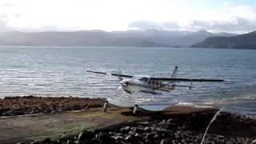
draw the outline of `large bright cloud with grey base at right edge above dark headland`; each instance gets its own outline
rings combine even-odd
[[[229,4],[226,4],[225,8],[222,13],[216,14],[216,17],[210,20],[190,20],[183,28],[233,33],[246,33],[256,29],[256,10],[250,6],[230,6]]]

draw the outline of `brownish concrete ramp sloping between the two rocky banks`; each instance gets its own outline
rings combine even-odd
[[[211,108],[194,106],[170,106],[161,111],[110,106],[106,112],[102,108],[70,111],[61,114],[37,114],[0,118],[0,143],[31,142],[44,138],[59,139],[78,134],[82,130],[95,130],[103,126],[147,119],[158,114],[191,114]]]

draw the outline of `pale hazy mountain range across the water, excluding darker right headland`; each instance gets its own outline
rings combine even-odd
[[[106,32],[81,30],[72,32],[2,32],[0,46],[144,46],[144,47],[188,47],[206,38],[219,36],[205,30],[127,30]]]

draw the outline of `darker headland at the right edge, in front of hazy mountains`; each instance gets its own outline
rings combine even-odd
[[[230,49],[256,49],[256,32],[239,34],[233,37],[206,38],[191,47],[230,48]]]

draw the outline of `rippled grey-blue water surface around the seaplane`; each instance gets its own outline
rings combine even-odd
[[[86,73],[179,78],[218,78],[226,82],[193,83],[162,95],[126,94],[118,78]],[[187,84],[190,83],[179,83]],[[123,102],[217,106],[256,117],[256,50],[142,47],[0,47],[0,97],[77,96],[120,98]]]

